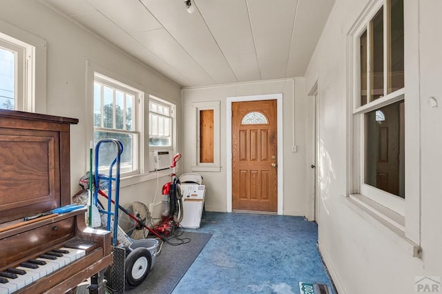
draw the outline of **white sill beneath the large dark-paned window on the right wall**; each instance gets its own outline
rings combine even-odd
[[[413,257],[421,258],[421,246],[405,236],[405,217],[361,194],[349,195],[349,197],[346,197],[345,204],[386,233],[394,243],[401,246],[407,253]]]

